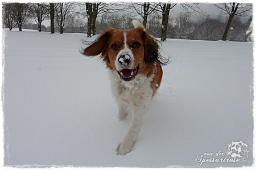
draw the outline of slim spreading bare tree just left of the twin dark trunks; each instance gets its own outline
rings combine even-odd
[[[60,27],[60,33],[64,32],[65,20],[72,16],[73,8],[72,2],[56,3],[56,22]]]

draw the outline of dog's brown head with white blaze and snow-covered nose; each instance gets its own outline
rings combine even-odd
[[[86,56],[100,55],[106,66],[117,71],[121,80],[126,82],[137,74],[152,74],[148,73],[148,66],[164,63],[160,61],[158,41],[145,31],[141,23],[133,20],[133,24],[135,28],[127,31],[110,28],[84,50]]]

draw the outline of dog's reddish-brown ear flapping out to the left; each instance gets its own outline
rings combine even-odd
[[[85,56],[98,56],[101,54],[101,57],[103,57],[106,50],[105,46],[108,44],[109,39],[112,37],[114,30],[115,29],[110,28],[108,31],[105,31],[96,40],[94,40],[90,46],[85,48]]]

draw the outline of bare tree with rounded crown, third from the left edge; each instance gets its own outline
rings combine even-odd
[[[35,22],[38,24],[38,31],[41,32],[42,22],[49,15],[47,6],[44,3],[30,3],[29,6],[30,6],[30,13],[33,15]]]

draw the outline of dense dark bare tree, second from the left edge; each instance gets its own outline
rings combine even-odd
[[[26,3],[10,3],[10,17],[18,25],[19,31],[22,31],[22,25],[30,17],[28,13],[28,5]]]

